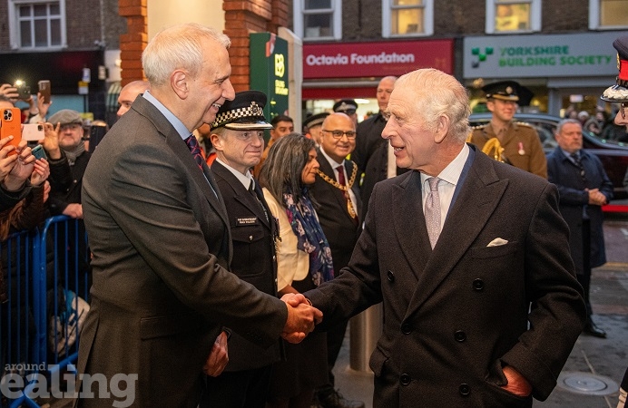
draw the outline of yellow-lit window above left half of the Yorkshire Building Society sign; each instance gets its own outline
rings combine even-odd
[[[486,33],[541,30],[541,0],[486,0]]]

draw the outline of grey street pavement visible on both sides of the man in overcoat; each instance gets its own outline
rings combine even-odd
[[[618,387],[628,367],[628,214],[606,214],[604,238],[608,262],[591,278],[594,322],[608,335],[601,339],[580,335],[558,378],[558,386],[542,408],[615,408]],[[349,331],[347,331],[347,334]],[[340,350],[334,374],[345,398],[372,408],[373,374],[349,364],[349,338]]]

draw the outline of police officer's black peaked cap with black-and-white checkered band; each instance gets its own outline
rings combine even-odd
[[[233,101],[225,101],[211,122],[211,130],[227,128],[234,131],[272,129],[264,118],[266,94],[260,91],[236,92]]]

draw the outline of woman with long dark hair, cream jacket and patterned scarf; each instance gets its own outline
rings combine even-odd
[[[280,296],[305,292],[334,276],[329,244],[309,199],[318,169],[314,141],[290,133],[272,145],[260,171],[264,198],[279,222]],[[314,389],[328,380],[326,335],[315,332],[285,348],[286,360],[273,367],[267,406],[309,408]]]

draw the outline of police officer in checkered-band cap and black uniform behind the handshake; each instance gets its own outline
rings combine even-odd
[[[242,91],[225,101],[211,123],[216,160],[211,164],[227,209],[233,258],[231,272],[261,292],[277,296],[277,262],[274,241],[277,225],[250,169],[260,162],[266,95]],[[263,408],[273,363],[280,360],[280,342],[269,348],[233,333],[229,364],[217,377],[207,376],[201,407],[247,406]]]

